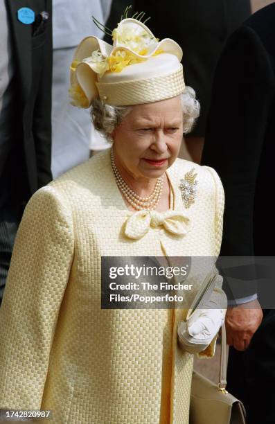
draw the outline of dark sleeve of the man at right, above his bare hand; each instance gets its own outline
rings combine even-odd
[[[242,26],[229,37],[218,62],[202,157],[202,164],[215,168],[224,186],[221,256],[254,256],[254,195],[273,79],[260,38]],[[238,280],[238,272],[235,277]],[[237,297],[249,296],[255,285],[244,284],[237,292]]]

